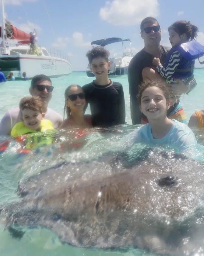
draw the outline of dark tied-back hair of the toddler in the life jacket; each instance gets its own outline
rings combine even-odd
[[[191,24],[190,21],[186,20],[178,20],[174,22],[170,27],[168,27],[168,31],[173,29],[178,35],[186,34],[188,40],[196,39],[198,27]]]

